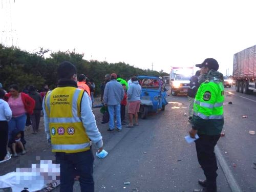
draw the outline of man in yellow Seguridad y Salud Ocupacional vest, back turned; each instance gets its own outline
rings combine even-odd
[[[79,173],[81,191],[94,191],[91,141],[102,151],[102,137],[92,113],[92,101],[77,88],[76,68],[70,62],[58,67],[58,87],[44,98],[47,139],[60,163],[60,191],[73,191],[74,169]]]

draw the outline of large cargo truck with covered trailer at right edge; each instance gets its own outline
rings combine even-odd
[[[256,45],[234,54],[233,77],[237,92],[252,94],[256,90]]]

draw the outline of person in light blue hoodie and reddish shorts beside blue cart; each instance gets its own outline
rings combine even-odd
[[[132,77],[131,79],[132,83],[130,84],[130,87],[127,91],[127,100],[129,102],[129,125],[126,126],[127,128],[133,127],[133,116],[135,117],[135,125],[139,125],[138,112],[140,110],[141,86],[136,76]]]

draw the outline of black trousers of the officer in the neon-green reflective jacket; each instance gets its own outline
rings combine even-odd
[[[220,135],[200,135],[199,139],[196,140],[196,150],[198,162],[204,170],[206,177],[207,191],[217,191],[216,173],[218,166],[217,160],[214,153],[215,145],[220,139]]]

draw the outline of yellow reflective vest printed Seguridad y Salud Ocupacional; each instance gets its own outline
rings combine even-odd
[[[59,87],[47,93],[45,109],[49,117],[52,152],[90,150],[91,142],[80,118],[83,93],[74,87]]]

